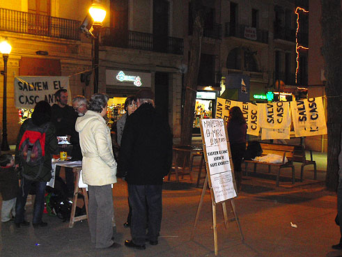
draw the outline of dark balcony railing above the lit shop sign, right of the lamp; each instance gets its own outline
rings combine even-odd
[[[169,54],[183,54],[182,38],[155,36],[137,31],[122,31],[108,27],[101,29],[102,45],[107,47],[123,47],[141,49]]]

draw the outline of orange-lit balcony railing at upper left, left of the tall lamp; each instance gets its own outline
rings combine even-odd
[[[80,40],[81,22],[0,8],[0,31]]]

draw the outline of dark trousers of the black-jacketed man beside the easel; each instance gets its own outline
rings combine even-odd
[[[132,241],[134,244],[145,244],[146,238],[156,241],[162,223],[162,185],[128,184],[128,198],[132,208]]]

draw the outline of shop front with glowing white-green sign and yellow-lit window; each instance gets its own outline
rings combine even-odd
[[[107,121],[109,127],[125,114],[125,100],[135,95],[141,88],[150,88],[150,72],[131,70],[106,70],[106,93],[109,95]]]

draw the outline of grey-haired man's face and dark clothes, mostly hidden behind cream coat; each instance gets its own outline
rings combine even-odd
[[[84,116],[86,111],[88,111],[88,101],[83,95],[77,95],[72,98],[72,108],[77,112],[77,116]],[[74,126],[76,119],[74,121]],[[72,132],[70,143],[72,144],[71,157],[73,161],[78,161],[82,159],[81,146],[79,146],[79,133]]]

